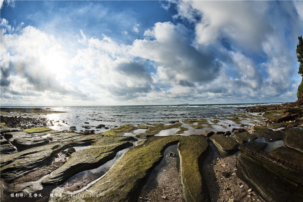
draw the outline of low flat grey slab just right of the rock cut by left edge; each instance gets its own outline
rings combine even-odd
[[[49,143],[48,139],[42,137],[22,137],[22,138],[16,138],[13,141],[13,144],[21,151],[48,143]]]

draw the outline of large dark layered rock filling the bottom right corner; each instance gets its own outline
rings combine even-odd
[[[299,134],[303,134],[300,129],[289,130],[285,145],[297,145],[294,141],[302,138]],[[241,152],[237,157],[238,174],[265,201],[302,201],[301,148],[295,146],[298,149],[296,151],[281,146],[267,152],[267,144],[269,143],[252,141],[239,146]]]

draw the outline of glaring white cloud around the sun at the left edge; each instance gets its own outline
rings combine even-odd
[[[67,54],[54,36],[32,26],[21,29],[19,35],[2,31],[1,92],[22,97],[49,92],[87,99],[65,81],[69,75]],[[1,96],[6,103],[5,94]]]

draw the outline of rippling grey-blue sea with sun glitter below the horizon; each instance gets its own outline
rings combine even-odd
[[[20,108],[50,108],[65,113],[38,115],[51,120],[53,126],[47,127],[54,130],[68,130],[76,126],[77,131],[83,131],[84,127],[95,129],[99,124],[106,128],[98,129],[105,132],[116,127],[129,124],[132,126],[146,124],[169,124],[170,121],[184,119],[211,119],[218,116],[230,115],[243,109],[239,107],[256,106],[260,103],[245,104],[182,104],[182,105],[128,105],[128,106],[23,106]],[[280,103],[262,103],[262,105]],[[7,107],[7,106],[2,106]]]

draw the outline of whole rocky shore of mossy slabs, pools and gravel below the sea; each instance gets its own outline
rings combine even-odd
[[[54,113],[51,109],[16,108],[13,114],[1,108],[1,200],[302,201],[303,106],[241,110],[209,120],[125,125],[95,134],[55,131],[45,127],[50,120],[30,117]],[[183,136],[189,127],[204,132]],[[178,128],[176,135],[155,136],[172,128]],[[145,131],[123,136],[137,129]],[[164,154],[174,144],[178,169],[176,157]],[[118,157],[120,151],[125,153]],[[163,156],[168,163],[151,181]],[[106,174],[96,175],[101,170]],[[90,177],[66,187],[65,181],[78,173]]]

